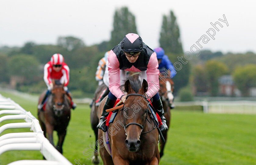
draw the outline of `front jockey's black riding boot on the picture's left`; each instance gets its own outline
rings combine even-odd
[[[115,105],[116,100],[111,100],[110,98],[107,97],[107,100],[105,102],[105,105],[103,107],[103,111],[101,114],[101,118],[99,121],[99,124],[97,125],[97,128],[101,129],[103,132],[107,131],[107,126],[105,123],[105,118],[108,116],[109,112],[106,112],[107,109],[113,108]]]

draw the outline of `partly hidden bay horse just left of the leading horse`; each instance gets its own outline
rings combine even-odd
[[[103,83],[100,86],[97,87],[95,93],[94,93],[94,98],[93,98],[93,103],[91,106],[91,113],[90,113],[90,121],[91,121],[91,128],[94,131],[94,135],[95,135],[95,150],[94,150],[94,156],[92,158],[92,163],[94,164],[99,164],[100,160],[98,158],[98,146],[96,144],[97,140],[98,140],[98,128],[96,127],[99,123],[99,114],[98,114],[98,106],[96,106],[96,100],[99,99],[99,97],[101,96],[102,92],[107,88],[107,86]],[[105,102],[104,102],[105,103]]]

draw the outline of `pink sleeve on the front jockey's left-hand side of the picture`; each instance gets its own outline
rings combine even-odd
[[[111,50],[108,55],[108,79],[109,85],[108,88],[110,92],[120,99],[123,95],[123,92],[119,89],[120,86],[120,69],[119,61],[116,57],[116,54]]]

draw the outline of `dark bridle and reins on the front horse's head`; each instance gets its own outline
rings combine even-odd
[[[128,96],[132,96],[132,95],[133,95],[133,96],[134,96],[134,95],[135,95],[135,96],[141,96],[141,97],[144,97],[145,100],[147,100],[147,98],[146,98],[144,95],[137,94],[137,93],[131,93],[131,94],[126,95],[126,99],[127,99]],[[147,102],[148,102],[148,100],[147,100]],[[142,132],[143,129],[144,129],[144,126],[145,126],[145,124],[146,124],[146,121],[148,121],[149,123],[151,123],[151,122],[148,120],[148,118],[147,118],[148,114],[150,114],[150,115],[152,116],[152,113],[149,111],[148,108],[149,108],[149,107],[148,107],[148,105],[147,105],[146,116],[145,116],[143,125],[140,125],[139,123],[128,123],[128,124],[126,125],[125,122],[124,122],[124,115],[123,115],[123,123],[124,123],[123,128],[124,128],[124,131],[125,131],[125,135],[126,135],[126,136],[127,136],[127,134],[126,134],[126,128],[127,128],[129,125],[137,125],[137,126],[139,126],[139,127],[141,128],[140,135],[141,135],[142,133],[148,133],[148,132],[152,131],[153,129],[157,128],[157,127],[156,127],[156,124],[155,124],[155,122],[154,122],[154,127],[153,127],[151,130],[149,130],[149,131],[147,131],[147,132]],[[123,111],[124,108],[122,108],[121,110]],[[120,110],[120,111],[121,111],[121,110]],[[151,116],[150,116],[150,117],[151,117]],[[152,119],[155,120],[154,118],[152,118]]]

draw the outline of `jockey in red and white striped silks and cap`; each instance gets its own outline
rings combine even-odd
[[[75,109],[76,104],[73,103],[67,87],[69,84],[69,67],[64,62],[64,58],[61,54],[53,54],[51,60],[44,65],[44,82],[46,83],[48,90],[45,93],[41,105],[38,105],[38,109],[42,109],[45,100],[51,93],[53,88],[53,79],[59,80],[61,84],[64,84],[64,90],[67,92],[66,94],[71,100],[71,107]]]

